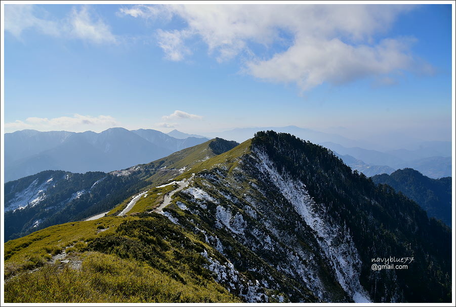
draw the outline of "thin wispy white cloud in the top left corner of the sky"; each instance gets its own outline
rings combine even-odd
[[[73,8],[64,19],[50,19],[49,13],[34,5],[5,5],[5,30],[20,39],[26,29],[42,34],[78,38],[93,43],[114,43],[116,37],[100,18],[95,19],[89,7]]]

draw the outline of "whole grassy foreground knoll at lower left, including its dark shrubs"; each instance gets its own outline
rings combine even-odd
[[[69,264],[48,261],[65,247]],[[5,301],[239,301],[203,268],[203,250],[217,253],[158,214],[49,227],[5,244]]]

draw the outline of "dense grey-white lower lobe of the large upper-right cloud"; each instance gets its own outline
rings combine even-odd
[[[331,40],[298,40],[287,51],[269,60],[247,63],[255,77],[275,82],[296,82],[309,90],[323,82],[343,84],[371,75],[410,68],[413,60],[403,40],[387,39],[378,45],[351,46]]]

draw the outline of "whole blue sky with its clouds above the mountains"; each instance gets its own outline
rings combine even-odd
[[[6,5],[5,131],[451,139],[451,6]]]

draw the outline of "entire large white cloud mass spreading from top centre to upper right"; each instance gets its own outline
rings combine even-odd
[[[342,84],[388,76],[401,70],[428,71],[410,53],[408,37],[386,37],[410,5],[137,5],[121,15],[156,19],[177,16],[181,29],[158,30],[166,57],[191,54],[188,40],[199,38],[218,61],[245,55],[243,71],[257,78],[296,83],[309,90],[324,82]],[[374,37],[384,37],[382,40]],[[265,46],[269,56],[258,54]],[[260,45],[258,45],[260,44]],[[417,68],[418,67],[418,68]]]

